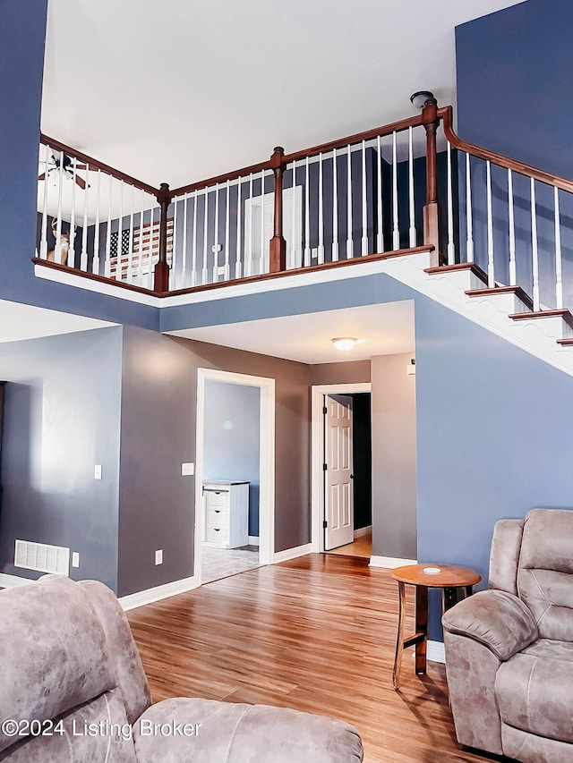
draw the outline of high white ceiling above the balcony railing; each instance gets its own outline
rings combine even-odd
[[[455,103],[454,27],[521,0],[49,0],[42,130],[171,187]]]

